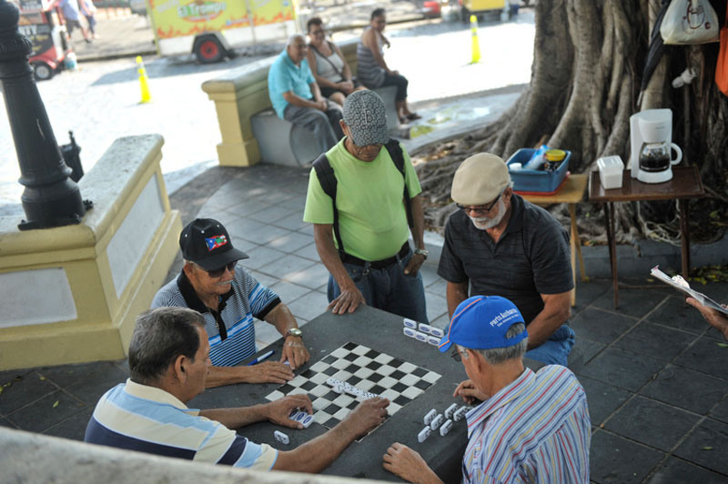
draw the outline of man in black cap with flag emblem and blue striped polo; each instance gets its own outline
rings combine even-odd
[[[226,228],[217,220],[197,218],[182,230],[179,247],[185,266],[176,279],[159,289],[152,308],[191,308],[205,318],[213,364],[207,388],[292,379],[291,369],[309,358],[296,318],[278,294],[238,266],[238,260],[248,255],[233,247]],[[278,329],[285,338],[283,355],[278,362],[235,366],[257,350],[253,317]]]

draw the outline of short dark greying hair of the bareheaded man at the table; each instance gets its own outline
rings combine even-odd
[[[156,308],[140,314],[129,343],[131,379],[153,382],[180,355],[194,361],[200,343],[197,328],[204,327],[202,315],[189,308]]]

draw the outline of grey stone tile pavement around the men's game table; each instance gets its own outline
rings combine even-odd
[[[195,215],[222,221],[234,244],[250,256],[244,266],[278,291],[305,326],[326,308],[328,277],[311,227],[301,221],[308,171],[216,169],[217,183],[214,176],[206,180],[207,195],[183,187],[173,207],[194,199],[182,207],[183,223]],[[180,267],[177,258],[168,278]],[[424,266],[422,275],[428,315],[443,328],[444,281],[434,264]],[[728,284],[702,290],[728,299]],[[723,338],[667,287],[623,288],[620,300],[622,306],[614,309],[609,280],[579,281],[572,308],[577,343],[570,366],[589,401],[591,481],[725,482],[728,348],[720,346]],[[257,323],[256,331],[259,348],[278,338],[267,323]],[[127,376],[126,360],[0,372],[0,425],[83,439],[96,399]]]

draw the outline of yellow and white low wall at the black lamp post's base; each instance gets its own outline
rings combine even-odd
[[[0,369],[124,358],[177,254],[158,135],[117,139],[79,187],[81,224],[17,229],[0,217]]]

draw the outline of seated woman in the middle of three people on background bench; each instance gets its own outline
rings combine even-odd
[[[354,91],[366,89],[353,76],[349,64],[339,46],[326,39],[323,21],[318,17],[308,19],[308,66],[321,89],[321,96],[344,106],[344,99]]]

